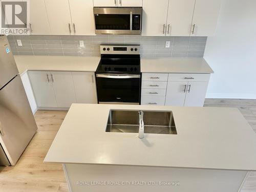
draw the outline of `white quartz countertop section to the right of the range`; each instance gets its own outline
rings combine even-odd
[[[142,58],[142,73],[214,73],[204,58]]]

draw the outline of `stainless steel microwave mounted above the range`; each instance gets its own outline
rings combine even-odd
[[[94,7],[96,34],[141,34],[142,7]]]

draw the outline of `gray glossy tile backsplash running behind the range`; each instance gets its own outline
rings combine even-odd
[[[203,57],[207,37],[9,35],[8,39],[15,55],[99,56],[101,44],[125,44],[140,45],[141,57]],[[17,39],[23,46],[17,45]],[[165,41],[170,41],[169,48]]]

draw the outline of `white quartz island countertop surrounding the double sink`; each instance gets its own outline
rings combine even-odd
[[[105,132],[111,109],[173,111],[178,135]],[[256,170],[255,152],[236,108],[72,104],[44,161]]]

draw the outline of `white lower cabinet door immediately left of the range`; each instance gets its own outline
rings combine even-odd
[[[72,72],[77,103],[97,103],[94,73]]]

